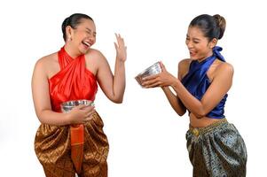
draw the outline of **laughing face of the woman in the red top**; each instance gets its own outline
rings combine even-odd
[[[80,55],[87,53],[90,47],[96,42],[96,26],[90,19],[81,19],[75,28],[68,26],[66,30],[67,42]],[[71,38],[71,40],[68,40],[68,38]]]

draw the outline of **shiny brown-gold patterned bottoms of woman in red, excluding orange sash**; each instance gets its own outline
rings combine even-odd
[[[103,127],[97,112],[84,124],[82,170],[79,176],[107,176],[109,146]],[[35,135],[35,153],[46,177],[75,177],[69,126],[41,124]]]

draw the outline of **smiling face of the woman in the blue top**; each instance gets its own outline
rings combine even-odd
[[[212,55],[212,48],[216,46],[216,39],[208,42],[199,27],[188,27],[185,44],[193,60],[203,60]]]

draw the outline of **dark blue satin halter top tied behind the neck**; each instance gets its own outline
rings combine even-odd
[[[209,66],[216,60],[216,58],[225,62],[224,57],[220,53],[221,50],[223,50],[223,48],[216,46],[213,48],[212,56],[206,58],[201,62],[193,60],[189,66],[188,73],[182,79],[182,83],[185,88],[192,94],[192,96],[195,96],[199,100],[201,100],[202,96],[204,96],[211,83],[206,74]],[[225,94],[220,103],[217,104],[211,112],[208,112],[208,114],[206,115],[208,118],[224,118],[224,104],[226,102],[227,96],[228,95]]]

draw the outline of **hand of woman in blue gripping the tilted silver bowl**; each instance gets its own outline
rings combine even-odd
[[[170,74],[161,62],[160,65],[162,70],[161,73],[147,76],[143,79],[142,86],[144,88],[167,87],[177,81],[177,78]]]

